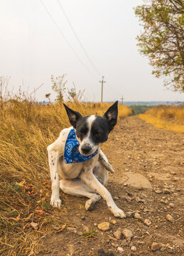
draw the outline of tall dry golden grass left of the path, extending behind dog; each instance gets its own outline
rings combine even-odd
[[[102,115],[109,104],[68,103],[83,115]],[[131,109],[119,105],[119,117]],[[0,108],[0,243],[1,255],[36,255],[43,237],[57,232],[50,207],[46,147],[70,124],[63,105],[36,105],[10,100]],[[63,195],[65,198],[65,195]],[[38,228],[31,227],[38,223]],[[62,218],[57,219],[62,223]]]

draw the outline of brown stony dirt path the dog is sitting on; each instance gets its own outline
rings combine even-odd
[[[183,256],[184,134],[157,129],[139,117],[127,117],[119,121],[103,151],[115,169],[109,174],[107,188],[117,206],[131,212],[131,218],[114,218],[102,200],[87,212],[86,198],[64,196],[60,221],[67,227],[45,237],[46,248],[39,255]],[[168,214],[172,221],[166,219]],[[146,219],[151,224],[146,225]],[[108,231],[97,228],[104,221],[110,224]],[[133,237],[121,235],[118,239],[118,233],[114,235],[118,228],[119,235],[127,228]],[[82,234],[91,229],[96,234],[85,238]],[[154,247],[153,242],[158,245]]]

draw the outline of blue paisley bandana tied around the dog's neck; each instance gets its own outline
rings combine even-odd
[[[98,150],[96,150],[90,156],[84,156],[80,154],[79,144],[80,143],[77,141],[76,138],[75,129],[71,129],[69,134],[67,135],[67,141],[65,143],[64,158],[66,164],[75,164],[82,161],[87,161],[88,159],[92,159],[92,157],[95,156],[98,152]]]

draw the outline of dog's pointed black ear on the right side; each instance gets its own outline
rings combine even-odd
[[[109,110],[104,113],[104,117],[107,118],[107,121],[109,123],[109,130],[110,132],[114,128],[114,126],[117,124],[117,115],[118,115],[118,101],[114,102],[114,104],[109,107]]]

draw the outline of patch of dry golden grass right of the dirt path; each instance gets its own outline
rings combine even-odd
[[[153,107],[151,110],[147,110],[145,114],[139,114],[139,117],[158,128],[184,132],[184,105]]]

